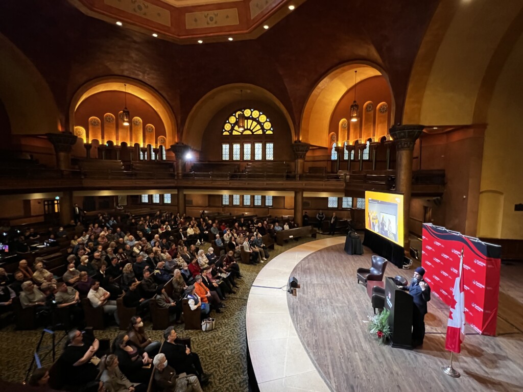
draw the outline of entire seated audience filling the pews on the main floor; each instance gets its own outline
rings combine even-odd
[[[32,265],[20,260],[12,274],[0,268],[0,313],[12,312],[16,300],[22,309],[33,310],[40,326],[60,322],[66,329],[78,328],[69,333],[58,362],[70,390],[99,390],[102,384],[111,391],[146,390],[155,368],[156,390],[178,390],[176,385],[182,382],[187,390],[198,391],[209,375],[198,355],[177,341],[174,328],[167,328],[162,346],[147,338],[143,320],[150,317],[150,302],[168,309],[175,324],[184,322],[183,298],[191,310],[201,309],[202,319],[212,311],[222,313],[227,296],[239,289],[242,253],[248,253],[252,263],[263,263],[269,252],[262,237],[275,233],[272,224],[257,222],[256,217],[228,224],[158,212],[122,223],[100,213],[85,226],[78,223],[74,229],[60,227],[51,233],[62,238],[57,241],[67,241],[61,276],[46,269],[41,257]],[[28,232],[33,241],[40,235],[51,238],[49,233]],[[212,246],[207,252],[199,249],[208,241]],[[24,244],[23,237],[20,243]],[[78,331],[88,325],[85,306],[103,308],[118,325],[116,300],[120,298],[123,306],[136,309],[135,316],[127,332],[113,342],[111,353],[93,361],[98,341]],[[56,309],[66,309],[66,319],[57,320]],[[31,382],[43,385],[48,379],[48,373],[38,370]]]

